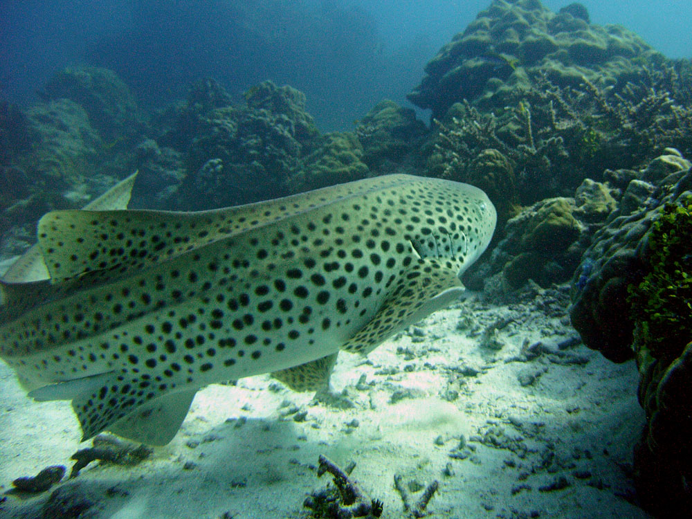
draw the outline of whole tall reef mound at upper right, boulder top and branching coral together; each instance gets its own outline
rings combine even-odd
[[[569,7],[494,1],[428,64],[410,99],[432,109],[438,132],[423,155],[436,176],[464,178],[495,149],[516,176],[514,198],[530,204],[572,196],[604,166],[639,168],[665,147],[692,152],[692,64]]]

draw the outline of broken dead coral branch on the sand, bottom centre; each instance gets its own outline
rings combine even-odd
[[[303,506],[313,510],[312,517],[330,519],[351,519],[364,517],[366,519],[377,518],[382,515],[382,502],[370,499],[361,491],[356,480],[352,480],[349,474],[356,466],[349,464],[343,471],[327,457],[320,455],[320,466],[317,475],[328,472],[334,477],[334,484],[338,489],[330,492],[329,489],[313,492],[303,503]]]

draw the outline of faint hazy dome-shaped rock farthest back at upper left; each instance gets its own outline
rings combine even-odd
[[[140,121],[134,95],[109,69],[68,67],[55,73],[38,94],[44,101],[64,98],[80,104],[104,140],[130,134]]]

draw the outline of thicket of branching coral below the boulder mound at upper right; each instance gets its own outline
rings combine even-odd
[[[583,179],[601,178],[605,165],[636,169],[666,147],[692,152],[692,109],[663,89],[671,84],[666,77],[650,72],[616,91],[585,77],[580,86],[557,86],[545,71],[534,73],[531,88],[509,93],[503,109],[464,100],[435,120],[428,167],[466,179],[471,161],[496,149],[511,162],[518,199],[528,204],[569,196]]]

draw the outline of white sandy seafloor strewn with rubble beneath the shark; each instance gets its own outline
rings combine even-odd
[[[382,518],[408,517],[397,474],[412,502],[439,481],[431,518],[647,518],[629,477],[644,424],[635,365],[575,340],[565,291],[536,293],[505,306],[471,295],[367,358],[341,354],[331,403],[268,376],[212,385],[140,464],[94,462],[28,498],[6,494],[13,479],[69,473],[89,444],[69,403],[31,401],[2,364],[0,516],[304,518],[306,496],[331,480],[316,475],[321,454],[356,462]]]

